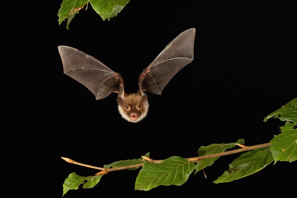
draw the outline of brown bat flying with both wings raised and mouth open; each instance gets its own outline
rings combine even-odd
[[[172,77],[194,60],[195,31],[190,28],[173,39],[138,76],[139,90],[130,94],[124,91],[121,74],[93,56],[69,46],[58,46],[58,51],[64,74],[88,88],[97,100],[116,93],[122,118],[136,123],[148,114],[146,92],[161,95]]]

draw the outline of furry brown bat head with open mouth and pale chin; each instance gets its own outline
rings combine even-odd
[[[117,98],[118,110],[125,120],[139,122],[147,116],[148,96],[142,94],[128,94]]]

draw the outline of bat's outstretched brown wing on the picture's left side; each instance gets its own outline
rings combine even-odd
[[[112,92],[124,92],[121,75],[93,56],[68,46],[58,46],[58,50],[64,73],[87,87],[96,99],[104,99]]]

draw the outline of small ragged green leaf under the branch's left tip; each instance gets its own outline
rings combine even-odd
[[[81,185],[81,184],[84,184],[83,188],[85,188],[85,189],[93,188],[94,186],[96,186],[98,184],[101,177],[102,177],[102,175],[82,177],[82,176],[77,175],[76,173],[70,173],[69,176],[65,179],[64,184],[63,184],[63,196],[69,190],[77,190],[79,185]],[[85,184],[85,181],[87,181],[86,184]]]

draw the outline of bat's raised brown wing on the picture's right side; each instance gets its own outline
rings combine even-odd
[[[172,40],[139,75],[140,91],[161,95],[171,78],[194,59],[195,28]]]

